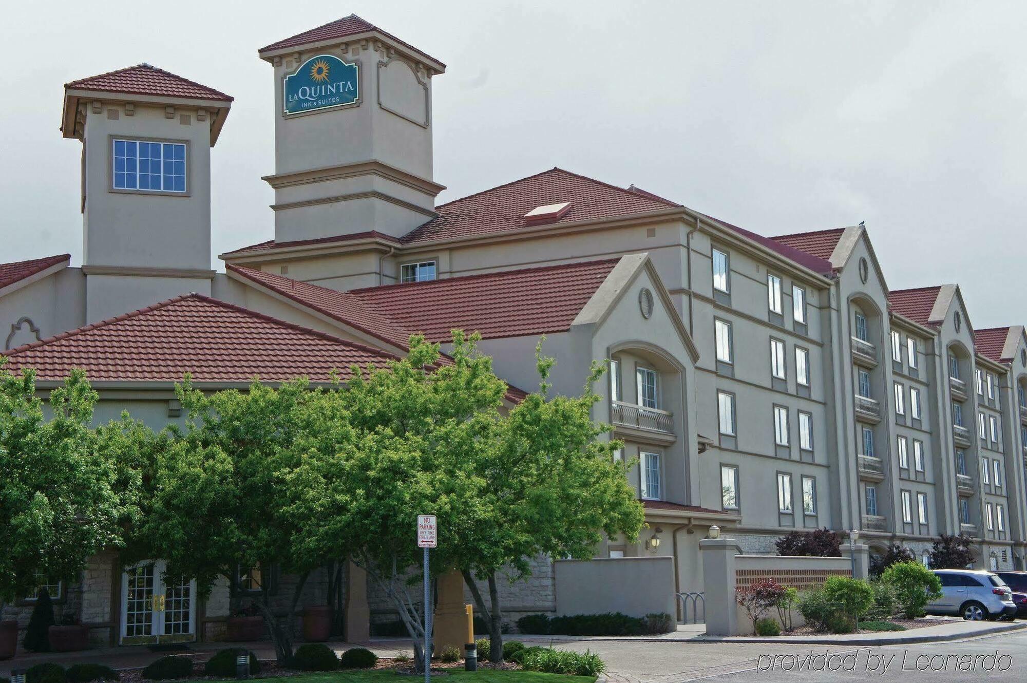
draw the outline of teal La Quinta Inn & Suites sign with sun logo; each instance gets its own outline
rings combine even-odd
[[[360,97],[355,64],[332,54],[312,56],[286,76],[282,101],[286,115],[351,105]]]

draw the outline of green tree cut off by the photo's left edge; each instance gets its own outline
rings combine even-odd
[[[72,371],[48,405],[35,373],[0,357],[0,608],[43,582],[77,580],[90,556],[123,542],[136,514],[138,478],[121,459],[136,425],[92,429],[97,392]],[[47,419],[46,412],[50,418]]]

